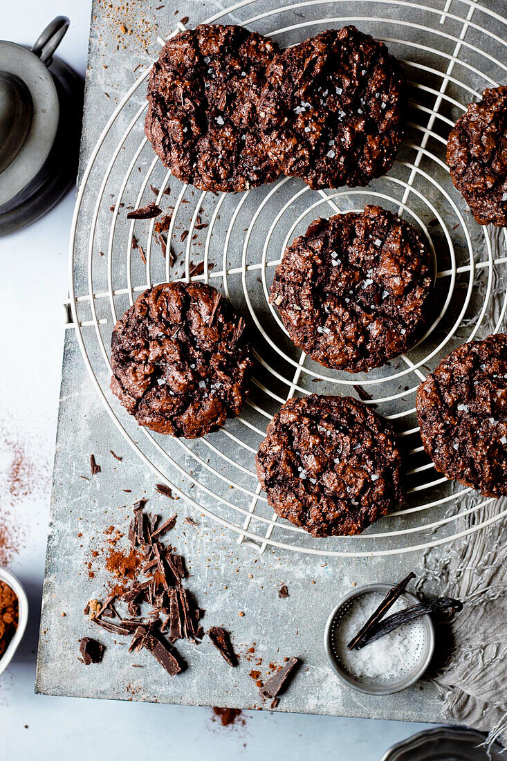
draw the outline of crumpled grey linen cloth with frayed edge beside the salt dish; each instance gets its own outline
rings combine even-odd
[[[497,228],[490,234],[493,257],[505,256],[503,231]],[[482,279],[479,288],[485,285]],[[493,268],[493,294],[479,338],[493,333],[504,299],[505,282]],[[467,335],[474,321],[462,324]],[[499,332],[502,331],[506,332],[505,323],[499,328]],[[457,484],[454,488],[462,487]],[[474,492],[464,495],[461,511],[477,504],[478,499]],[[493,500],[459,518],[456,529],[473,527],[505,510],[507,498]],[[454,647],[436,677],[448,717],[486,731],[488,743],[498,739],[507,746],[507,517],[454,540],[443,556],[441,550],[439,559],[432,550],[427,551],[425,572],[417,587],[422,592],[431,590],[458,597],[465,603],[463,612],[455,616],[452,625]]]

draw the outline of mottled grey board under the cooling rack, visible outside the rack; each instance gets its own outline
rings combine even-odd
[[[120,17],[107,4],[94,2],[81,175],[113,110],[113,100],[132,84],[136,76],[132,70],[139,63],[148,65],[156,56],[158,25],[161,33],[168,33],[175,18],[188,15],[189,24],[194,25],[207,15],[206,8],[203,10],[198,2],[181,3],[178,9],[175,17],[171,8],[155,11],[155,3],[132,2],[127,15]],[[141,11],[142,18],[148,20],[144,26],[140,24]],[[151,25],[151,19],[157,21]],[[120,24],[132,34],[122,33]],[[81,246],[85,245],[84,230]],[[92,360],[98,361],[98,346],[95,351]],[[122,463],[111,457],[111,449],[123,456]],[[102,471],[87,481],[80,476],[89,476],[91,453]],[[75,336],[69,330],[63,359],[43,591],[38,692],[269,708],[269,702],[260,699],[250,670],[259,668],[265,676],[270,662],[297,655],[304,666],[283,696],[280,711],[445,721],[431,680],[431,667],[425,680],[403,693],[387,697],[359,695],[336,679],[323,646],[327,617],[340,597],[355,584],[398,581],[411,569],[417,570],[420,555],[326,560],[268,548],[259,556],[247,547],[238,547],[233,533],[195,512],[193,517],[199,527],[182,524],[182,518],[188,514],[184,502],[174,504],[156,495],[154,482],[154,476],[129,450],[104,412],[85,373]],[[132,492],[126,495],[123,489]],[[168,515],[177,508],[180,520],[171,542],[187,558],[191,574],[188,586],[199,605],[206,609],[205,626],[217,624],[230,629],[240,655],[255,643],[256,658],[262,658],[260,666],[240,658],[239,667],[231,669],[208,640],[199,647],[183,642],[178,649],[188,668],[171,679],[149,654],[132,658],[126,652],[127,643],[115,645],[113,638],[102,632],[98,638],[107,645],[102,666],[87,668],[78,661],[79,638],[97,635],[97,629],[83,616],[82,609],[91,597],[104,597],[108,578],[100,567],[95,569],[94,578],[89,578],[86,564],[91,560],[91,550],[103,543],[104,530],[111,524],[126,529],[130,517],[126,501],[146,495],[151,511]],[[202,499],[212,507],[208,496]],[[100,559],[94,565],[100,566]],[[281,600],[278,589],[284,583],[289,587],[289,597]],[[239,612],[244,612],[244,616],[239,616]],[[142,664],[142,668],[132,667],[132,662]]]

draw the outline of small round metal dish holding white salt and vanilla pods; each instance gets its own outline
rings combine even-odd
[[[351,653],[346,648],[346,642],[349,637],[343,638],[343,627],[346,626],[346,619],[351,615],[354,606],[360,600],[367,599],[368,596],[375,599],[375,603],[371,605],[371,612],[373,612],[380,601],[378,598],[379,594],[383,597],[392,586],[392,584],[368,584],[365,587],[359,587],[349,592],[336,605],[327,620],[324,632],[324,648],[326,649],[331,667],[340,680],[360,693],[367,693],[368,695],[399,693],[400,690],[409,687],[422,676],[432,658],[435,647],[435,632],[430,617],[421,616],[419,619],[406,625],[410,626],[410,645],[404,658],[400,660],[396,673],[389,673],[386,677],[371,677],[354,672],[354,653]],[[409,592],[404,592],[400,596],[400,601],[407,603],[407,605],[414,605],[420,602],[415,595]],[[389,611],[386,616],[391,615],[392,612],[393,610]],[[368,616],[365,616],[365,620],[366,618]],[[342,629],[341,631],[340,628]],[[357,629],[359,630],[359,626]],[[378,643],[381,643],[381,640],[378,640]],[[372,645],[366,645],[366,648],[368,647],[372,647]],[[366,648],[363,648],[362,652],[365,652]]]

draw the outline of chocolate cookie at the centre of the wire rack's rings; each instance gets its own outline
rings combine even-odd
[[[379,206],[312,222],[276,267],[270,301],[312,359],[349,372],[384,365],[421,335],[432,255]]]

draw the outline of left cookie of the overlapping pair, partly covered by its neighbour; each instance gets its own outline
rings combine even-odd
[[[174,177],[232,191],[276,180],[258,107],[278,46],[243,27],[200,24],[172,37],[151,69],[145,132]]]

